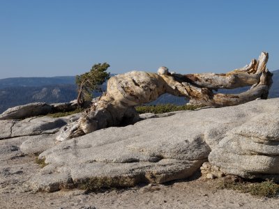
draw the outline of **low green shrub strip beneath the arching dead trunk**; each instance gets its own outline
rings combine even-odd
[[[163,114],[170,111],[180,111],[180,110],[194,110],[197,108],[204,107],[202,105],[181,105],[176,106],[174,104],[158,104],[158,105],[146,105],[138,106],[135,109],[139,114],[153,113],[153,114]]]

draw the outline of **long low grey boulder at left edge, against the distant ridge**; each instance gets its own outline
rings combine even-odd
[[[23,119],[33,116],[46,115],[52,111],[52,106],[45,102],[36,102],[17,107],[11,107],[0,115],[0,120]]]

